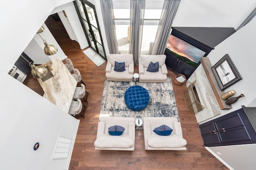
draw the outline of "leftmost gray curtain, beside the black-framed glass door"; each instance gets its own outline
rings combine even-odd
[[[110,54],[119,54],[118,44],[116,40],[116,29],[114,21],[114,12],[112,0],[100,0],[102,10],[102,17],[108,42],[108,49]]]

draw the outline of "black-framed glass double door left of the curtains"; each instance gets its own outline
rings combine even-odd
[[[76,0],[75,4],[88,44],[106,60],[95,6],[87,0]]]

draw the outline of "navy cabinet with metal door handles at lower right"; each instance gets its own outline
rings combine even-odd
[[[256,143],[256,132],[244,106],[203,123],[199,128],[206,147]]]

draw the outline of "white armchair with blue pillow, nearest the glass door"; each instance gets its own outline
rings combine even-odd
[[[106,78],[108,81],[124,81],[132,82],[134,72],[134,62],[132,54],[110,54],[107,57],[108,62],[106,65]],[[125,71],[116,72],[115,61],[118,63],[125,62]]]

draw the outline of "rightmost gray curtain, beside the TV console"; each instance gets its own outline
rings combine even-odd
[[[172,28],[172,21],[174,20],[179,4],[180,0],[164,0],[164,6],[151,55],[164,54],[166,42],[168,41]]]

